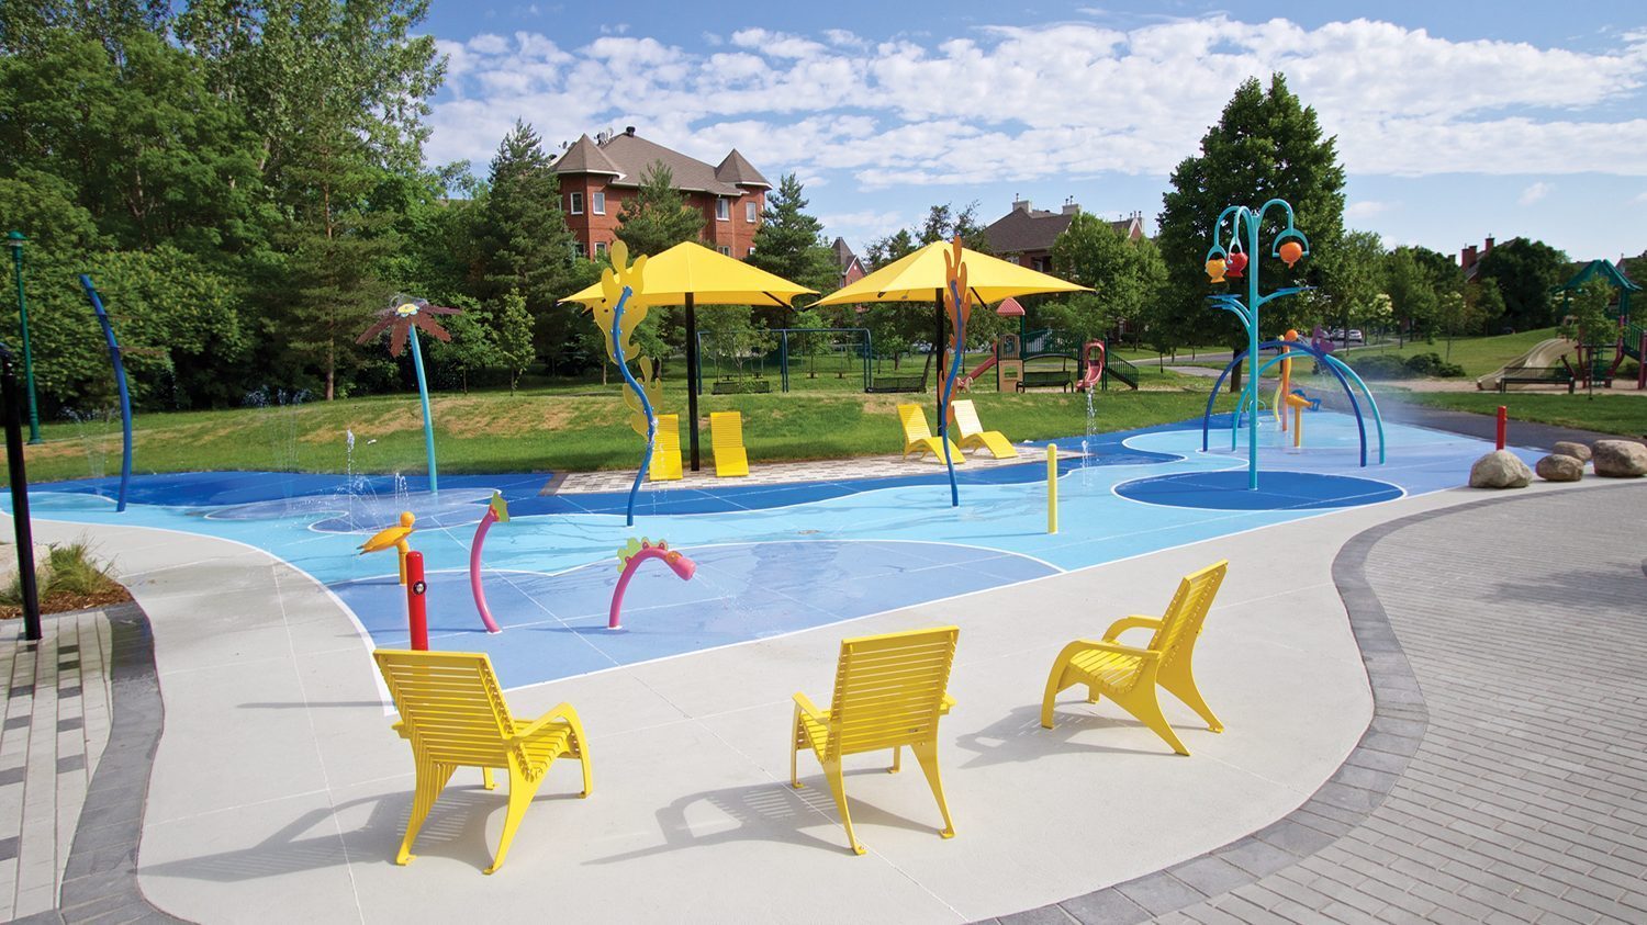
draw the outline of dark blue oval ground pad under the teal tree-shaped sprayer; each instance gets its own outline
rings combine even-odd
[[[1202,510],[1326,510],[1402,497],[1388,482],[1324,472],[1260,471],[1258,490],[1247,487],[1247,469],[1176,472],[1133,479],[1115,494],[1143,504]]]

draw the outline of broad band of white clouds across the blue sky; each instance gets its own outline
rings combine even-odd
[[[1196,151],[1240,81],[1280,71],[1357,174],[1647,176],[1647,119],[1609,115],[1647,110],[1637,33],[1593,53],[1227,16],[875,44],[746,28],[692,49],[611,31],[575,49],[535,33],[440,41],[450,81],[430,156],[483,160],[524,117],[552,142],[637,125],[705,160],[738,146],[774,174],[848,171],[871,189],[1159,176]]]

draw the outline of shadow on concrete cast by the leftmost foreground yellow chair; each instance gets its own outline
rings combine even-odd
[[[492,862],[492,853],[497,848],[496,839],[488,839],[486,825],[494,811],[502,813],[509,803],[507,775],[496,790],[486,790],[481,787],[476,769],[460,769],[458,774],[469,774],[474,782],[471,785],[446,785],[423,828],[418,830],[412,853],[420,858],[446,858],[473,864],[479,872]],[[540,792],[532,805],[576,798],[576,788],[555,793]],[[346,810],[367,805],[371,813],[366,823],[344,830],[339,838],[331,820]],[[346,864],[359,866],[374,861],[394,864],[410,815],[412,787],[408,785],[404,792],[362,797],[329,808],[310,810],[250,848],[143,864],[138,872],[145,877],[240,882]],[[326,830],[326,833],[305,836],[305,833],[316,830]]]

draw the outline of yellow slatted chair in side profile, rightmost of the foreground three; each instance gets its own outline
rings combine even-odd
[[[1156,685],[1166,688],[1186,706],[1207,721],[1207,729],[1222,732],[1224,724],[1207,708],[1196,688],[1196,676],[1191,670],[1191,657],[1196,650],[1196,637],[1201,624],[1207,619],[1212,597],[1224,583],[1229,560],[1211,565],[1194,574],[1186,576],[1178,584],[1178,594],[1166,607],[1161,619],[1131,616],[1115,621],[1103,642],[1079,639],[1064,647],[1052,662],[1052,673],[1046,678],[1046,695],[1041,698],[1041,726],[1052,727],[1052,701],[1057,693],[1075,685],[1087,685],[1087,703],[1097,703],[1099,695],[1108,695],[1127,713],[1155,731],[1156,736],[1173,746],[1173,751],[1187,755],[1189,749],[1178,741],[1173,727],[1161,716],[1161,703],[1156,700]],[[1153,629],[1148,648],[1122,645],[1115,639],[1128,629]]]

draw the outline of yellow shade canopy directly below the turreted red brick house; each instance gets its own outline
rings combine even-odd
[[[939,258],[942,260],[942,258]],[[781,304],[817,290],[791,283],[743,260],[687,240],[646,260],[646,291],[639,304]],[[600,283],[560,301],[596,304],[603,300]]]

